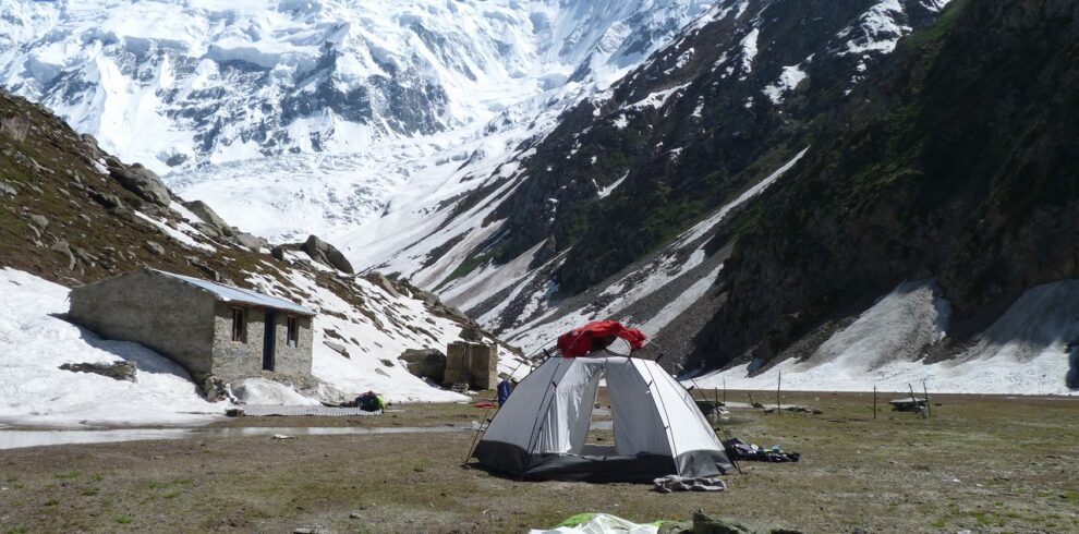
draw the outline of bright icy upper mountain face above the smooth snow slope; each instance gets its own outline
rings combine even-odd
[[[3,0],[0,83],[165,172],[486,123],[607,84],[705,0]]]

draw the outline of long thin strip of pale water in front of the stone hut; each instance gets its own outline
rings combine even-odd
[[[468,426],[385,427],[245,427],[245,428],[121,428],[114,430],[5,430],[0,429],[0,449],[72,444],[111,444],[162,439],[205,439],[243,436],[337,436],[348,434],[428,434],[472,432]]]

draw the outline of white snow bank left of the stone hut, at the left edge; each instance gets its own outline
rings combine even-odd
[[[0,269],[0,421],[35,426],[193,425],[225,415],[187,373],[136,343],[106,341],[56,315],[68,288]],[[135,362],[137,381],[72,373],[65,363]]]

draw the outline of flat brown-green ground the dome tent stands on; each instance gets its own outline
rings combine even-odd
[[[710,397],[712,393],[707,393]],[[745,401],[744,392],[728,400]],[[775,401],[775,392],[753,393]],[[883,404],[882,397],[882,404]],[[579,512],[634,521],[694,510],[804,532],[1079,532],[1079,402],[934,397],[933,416],[871,393],[791,393],[822,414],[732,410],[727,427],[802,453],[743,463],[714,494],[642,484],[520,482],[461,466],[470,432],[66,445],[0,450],[0,533],[522,532]],[[483,410],[392,406],[380,417],[245,417],[216,426],[439,426]],[[609,439],[609,432],[597,433]]]

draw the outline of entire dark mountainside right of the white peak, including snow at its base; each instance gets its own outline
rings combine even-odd
[[[405,274],[524,347],[634,323],[671,368],[730,369],[705,384],[1069,391],[1075,8],[942,8],[720,2]]]

